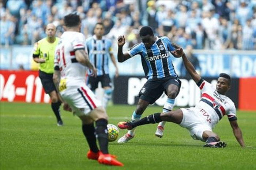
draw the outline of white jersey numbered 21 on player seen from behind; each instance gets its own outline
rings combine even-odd
[[[87,68],[75,58],[75,50],[85,49],[85,38],[80,32],[66,31],[61,37],[55,50],[54,68],[59,67],[61,79],[67,83],[85,82]]]

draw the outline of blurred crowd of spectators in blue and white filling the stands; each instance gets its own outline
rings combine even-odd
[[[256,0],[1,0],[1,44],[33,45],[48,23],[60,36],[63,17],[75,11],[85,37],[102,22],[113,46],[125,35],[132,47],[149,25],[183,48],[256,50]]]

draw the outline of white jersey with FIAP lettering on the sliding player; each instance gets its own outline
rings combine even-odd
[[[206,116],[207,122],[213,128],[224,115],[229,120],[236,120],[236,107],[234,102],[227,96],[219,94],[215,87],[201,79],[197,83],[201,90],[200,102],[195,106],[200,110],[199,114]]]

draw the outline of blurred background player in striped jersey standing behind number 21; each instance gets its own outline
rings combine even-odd
[[[104,89],[102,105],[106,108],[112,96],[111,80],[109,77],[109,58],[111,58],[116,67],[116,77],[118,76],[118,68],[112,52],[112,42],[103,36],[104,31],[103,24],[97,23],[94,28],[94,36],[86,40],[86,46],[90,62],[97,69],[97,77],[89,76],[88,86],[95,92],[96,88],[98,88],[98,83],[101,82],[101,86]]]

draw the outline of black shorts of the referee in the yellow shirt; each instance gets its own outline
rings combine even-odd
[[[50,92],[52,91],[56,91],[52,77],[53,77],[53,74],[48,74],[46,72],[39,70],[39,78],[47,94],[50,94]]]

